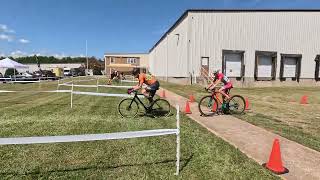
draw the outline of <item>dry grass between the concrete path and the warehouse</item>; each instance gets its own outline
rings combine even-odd
[[[199,85],[161,85],[184,97],[194,94],[197,101],[208,94]],[[238,118],[320,151],[320,87],[233,88],[231,94],[249,99],[250,111]],[[300,104],[303,95],[306,105]]]

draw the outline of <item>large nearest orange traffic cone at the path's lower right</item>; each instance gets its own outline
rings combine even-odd
[[[282,165],[279,139],[273,141],[272,151],[268,163],[263,166],[276,174],[288,173],[289,170]]]

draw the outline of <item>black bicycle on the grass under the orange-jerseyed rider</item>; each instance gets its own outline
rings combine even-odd
[[[153,117],[166,117],[170,114],[170,104],[165,99],[156,99],[150,103],[149,106],[145,105],[139,98],[138,91],[128,89],[128,94],[134,93],[133,98],[126,98],[120,101],[118,111],[122,117],[136,117],[139,112],[139,103],[145,110],[145,114],[151,114]]]

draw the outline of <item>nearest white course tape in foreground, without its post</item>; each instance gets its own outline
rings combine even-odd
[[[129,139],[129,138],[138,138],[138,137],[163,136],[163,135],[177,134],[177,133],[178,133],[177,129],[155,129],[155,130],[129,131],[129,132],[117,132],[117,133],[105,133],[105,134],[42,136],[42,137],[13,137],[13,138],[0,138],[0,145]]]

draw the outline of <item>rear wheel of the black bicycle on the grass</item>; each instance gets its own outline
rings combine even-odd
[[[170,114],[170,104],[167,100],[156,99],[152,105],[152,115],[154,117],[166,117]]]

